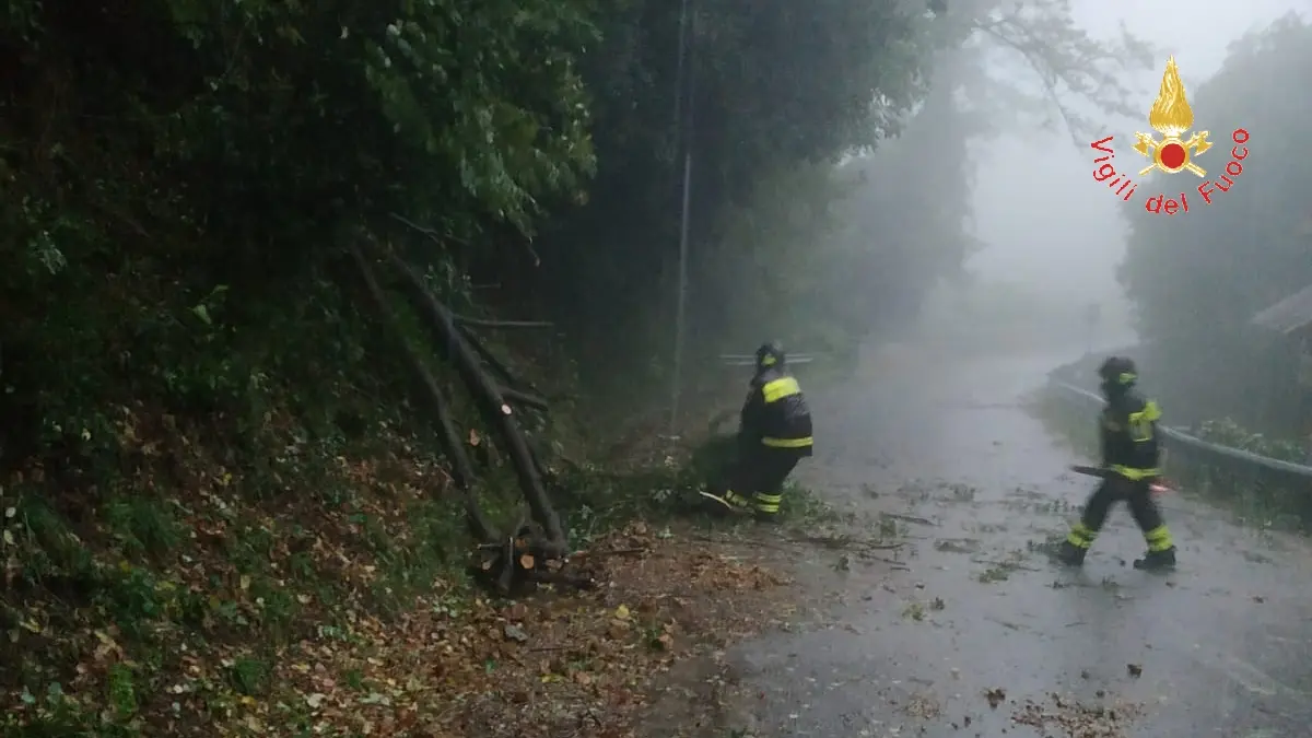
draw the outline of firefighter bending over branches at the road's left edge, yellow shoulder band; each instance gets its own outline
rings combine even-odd
[[[812,439],[806,397],[777,343],[756,351],[756,373],[743,404],[737,444],[729,488],[719,499],[760,517],[778,515],[783,481],[811,456]]]

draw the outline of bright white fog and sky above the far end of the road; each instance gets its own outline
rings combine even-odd
[[[1215,4],[1216,11],[1203,12],[1198,3],[1186,0],[1151,4],[1077,0],[1073,4],[1075,17],[1090,34],[1111,37],[1118,24],[1123,22],[1131,34],[1152,45],[1153,62],[1151,68],[1124,80],[1135,91],[1128,102],[1143,110],[1140,117],[1109,116],[1090,110],[1078,100],[1069,104],[1090,118],[1103,119],[1102,135],[1132,142],[1134,131],[1151,131],[1147,113],[1169,55],[1176,58],[1193,104],[1199,87],[1221,68],[1232,42],[1248,32],[1266,28],[1290,11],[1300,11],[1307,17],[1307,5],[1294,0],[1254,0],[1224,11]],[[1042,91],[1036,75],[1026,75],[1029,70],[1023,63],[1012,63],[1015,59],[1002,62],[1005,56],[996,55],[1000,63],[1008,64],[1004,74],[1012,81],[1035,93]],[[1231,130],[1228,125],[1228,121],[1199,117],[1195,127],[1211,129],[1216,141],[1218,137],[1224,139],[1223,131]],[[964,269],[971,276],[970,289],[1029,290],[1035,299],[1065,314],[1072,314],[1072,306],[1088,310],[1089,303],[1097,303],[1102,318],[1092,340],[1103,344],[1132,340],[1130,310],[1117,269],[1126,257],[1128,225],[1136,218],[1153,215],[1143,211],[1139,198],[1123,202],[1101,190],[1090,176],[1096,154],[1090,154],[1088,143],[1077,146],[1072,142],[1072,131],[1060,117],[1046,127],[1015,121],[1002,123],[998,135],[977,141],[972,148],[976,180],[967,227],[981,247],[964,261]],[[1120,147],[1128,151],[1130,143]],[[1149,176],[1170,179],[1169,175]],[[1179,184],[1195,186],[1195,183]],[[977,323],[989,320],[988,311],[976,311],[967,319],[954,310],[953,305],[962,301],[959,292],[959,285],[945,285],[929,301],[922,313],[926,334],[939,334],[939,339],[951,340],[963,332],[962,326],[953,328],[951,323],[964,319],[976,323],[964,332],[977,335],[981,328]],[[1015,316],[994,315],[993,319],[1014,320]],[[984,328],[994,328],[987,332],[1023,332],[1019,326]],[[1076,336],[1073,344],[1090,341],[1082,327],[1073,326],[1072,332]]]

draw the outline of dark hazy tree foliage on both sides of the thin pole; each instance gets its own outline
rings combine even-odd
[[[684,64],[695,89],[694,253],[733,231],[723,250],[707,255],[715,273],[698,265],[689,272],[690,294],[705,297],[706,309],[693,313],[698,332],[711,343],[727,332],[715,318],[727,295],[747,293],[733,309],[745,315],[770,282],[791,278],[773,271],[760,286],[733,284],[736,273],[762,273],[741,260],[744,251],[769,251],[761,261],[781,264],[807,253],[806,242],[756,238],[775,218],[765,209],[792,194],[778,185],[798,168],[833,163],[896,129],[922,91],[934,21],[922,9],[853,0],[695,7],[693,53]],[[547,269],[538,284],[576,326],[579,343],[598,347],[583,366],[605,381],[617,365],[649,369],[652,353],[665,355],[669,345],[682,181],[678,4],[622,3],[601,29],[602,45],[583,67],[597,96],[597,183],[584,211],[546,231],[539,252]],[[748,210],[757,223],[732,225],[733,214]],[[782,257],[785,250],[792,255]]]

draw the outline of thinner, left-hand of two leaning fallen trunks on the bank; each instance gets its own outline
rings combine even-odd
[[[396,318],[392,316],[391,310],[387,309],[387,299],[383,297],[383,290],[378,285],[378,278],[374,276],[374,271],[369,267],[369,261],[365,255],[359,252],[359,248],[354,244],[350,246],[352,259],[356,261],[356,268],[359,273],[361,281],[365,284],[365,293],[370,298],[370,303],[374,311],[382,318],[383,323],[391,328],[391,334],[398,343],[401,353],[405,356],[405,364],[409,366],[411,373],[415,376],[417,383],[417,394],[420,402],[428,407],[432,414],[430,423],[433,429],[437,432],[438,440],[442,444],[442,449],[446,452],[447,460],[451,462],[451,475],[455,479],[455,486],[461,488],[461,494],[464,500],[464,516],[470,525],[470,533],[479,542],[495,541],[500,536],[496,529],[488,523],[487,516],[483,515],[483,510],[479,507],[478,498],[475,494],[475,485],[478,475],[474,471],[474,465],[470,462],[468,454],[464,453],[464,443],[461,439],[459,431],[455,428],[455,420],[451,419],[451,414],[447,410],[449,404],[446,398],[442,395],[442,390],[433,378],[433,374],[424,366],[424,361],[415,353],[415,349],[405,343],[401,337],[400,331],[396,327]]]

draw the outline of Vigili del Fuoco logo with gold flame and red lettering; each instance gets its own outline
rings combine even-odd
[[[1194,159],[1206,154],[1214,144],[1207,141],[1207,137],[1211,135],[1208,131],[1194,131],[1187,139],[1183,138],[1194,127],[1194,110],[1185,98],[1185,83],[1179,81],[1179,70],[1176,67],[1174,56],[1166,59],[1166,74],[1161,77],[1161,91],[1157,93],[1157,100],[1148,110],[1148,125],[1162,138],[1157,139],[1145,133],[1135,134],[1138,141],[1132,147],[1134,151],[1152,162],[1139,169],[1140,177],[1147,176],[1153,169],[1168,175],[1189,172],[1203,180],[1197,188],[1195,205],[1199,198],[1203,204],[1211,205],[1219,193],[1229,192],[1239,176],[1244,173],[1244,159],[1248,158],[1248,146],[1245,146],[1248,131],[1244,129],[1235,129],[1235,133],[1231,134],[1233,147],[1229,151],[1229,160],[1225,162],[1224,172],[1216,172],[1208,179],[1207,169],[1194,163]],[[1111,148],[1114,138],[1109,135],[1089,144],[1094,151],[1103,154],[1093,160],[1098,165],[1093,171],[1093,179],[1130,202],[1130,198],[1139,189],[1139,183],[1130,179],[1128,175],[1118,172],[1111,163],[1117,158]],[[1168,215],[1189,213],[1191,194],[1191,192],[1181,192],[1177,200],[1174,194],[1168,197],[1165,193],[1153,193],[1144,201],[1144,210]]]

